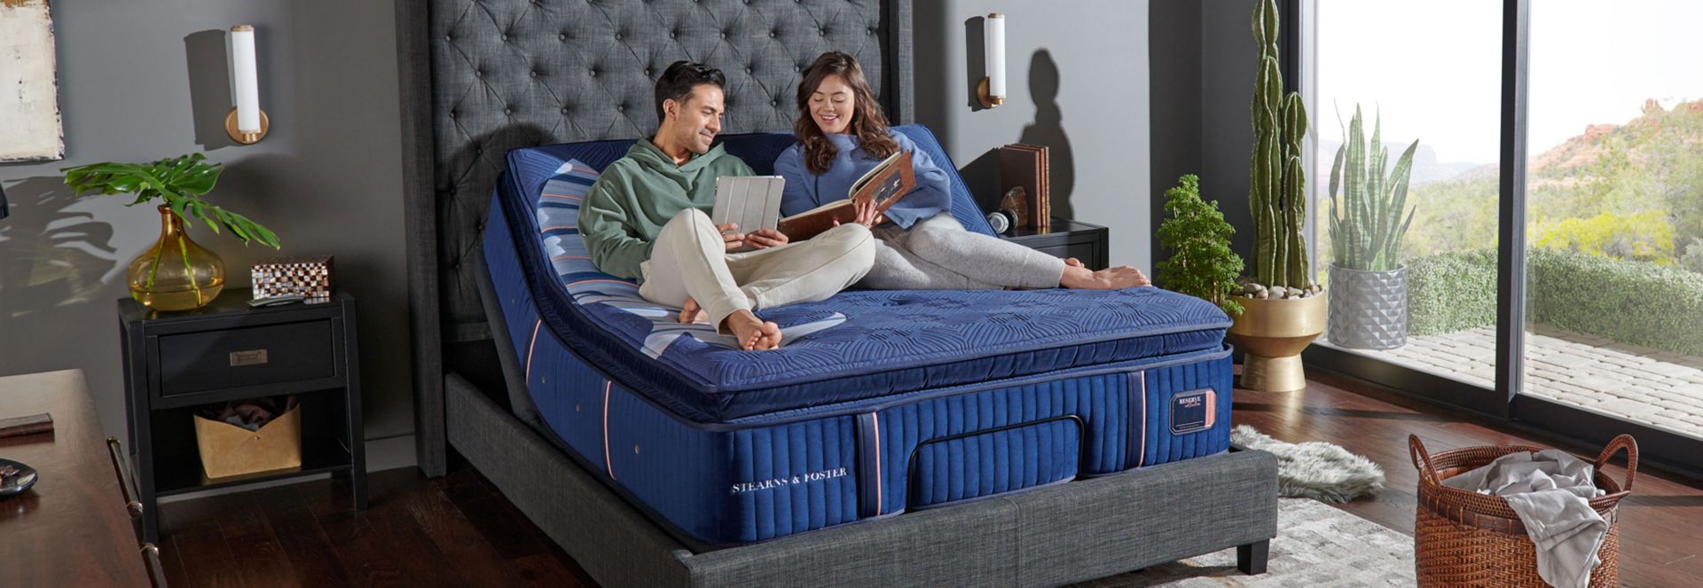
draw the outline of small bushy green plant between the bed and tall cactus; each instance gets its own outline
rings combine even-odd
[[[1194,174],[1180,177],[1177,187],[1165,191],[1160,249],[1170,251],[1170,257],[1158,264],[1160,285],[1204,298],[1231,317],[1240,315],[1241,303],[1235,293],[1241,256],[1230,251],[1235,232],[1218,211],[1216,199],[1201,199],[1201,179]]]

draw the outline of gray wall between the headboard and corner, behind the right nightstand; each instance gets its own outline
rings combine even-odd
[[[981,20],[1006,17],[1005,106],[983,109]],[[983,208],[995,150],[1049,147],[1052,213],[1112,228],[1112,264],[1151,271],[1148,2],[916,3],[916,118],[940,135]],[[1155,135],[1156,138],[1156,135]]]

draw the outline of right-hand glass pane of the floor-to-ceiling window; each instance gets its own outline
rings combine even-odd
[[[1531,9],[1522,394],[1703,436],[1703,66],[1689,0]]]

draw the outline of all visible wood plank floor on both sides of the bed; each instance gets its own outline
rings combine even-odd
[[[1432,452],[1499,443],[1591,457],[1599,450],[1320,373],[1303,392],[1236,390],[1235,399],[1236,424],[1286,441],[1339,443],[1381,464],[1386,487],[1340,508],[1403,533],[1413,528],[1417,484],[1408,433]],[[596,586],[470,469],[441,479],[414,469],[375,472],[370,496],[371,506],[356,513],[342,482],[318,481],[165,504],[167,578],[172,586]],[[1623,585],[1703,585],[1703,484],[1640,470],[1633,496],[1621,504]]]

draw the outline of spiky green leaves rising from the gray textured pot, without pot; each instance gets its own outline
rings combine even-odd
[[[1413,172],[1413,150],[1419,140],[1402,152],[1395,169],[1385,177],[1390,148],[1383,147],[1383,116],[1373,121],[1373,141],[1366,143],[1366,126],[1361,124],[1361,107],[1354,106],[1349,136],[1337,148],[1330,164],[1330,251],[1335,264],[1362,271],[1391,271],[1402,266],[1402,237],[1413,223],[1407,208],[1407,179]],[[1337,189],[1342,203],[1337,203]],[[1407,208],[1407,220],[1402,210]]]

